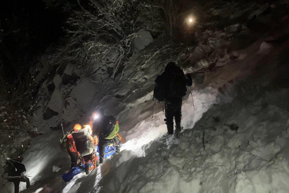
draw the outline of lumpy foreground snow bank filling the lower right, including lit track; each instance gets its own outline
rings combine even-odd
[[[132,135],[119,155],[89,176],[76,176],[63,193],[288,192],[288,94],[244,85],[226,95],[194,92],[196,111],[190,98],[184,101],[179,139],[164,135],[158,113],[151,128],[149,119],[134,128],[143,134]]]

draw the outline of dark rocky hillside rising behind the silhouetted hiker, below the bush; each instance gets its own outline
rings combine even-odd
[[[115,64],[123,54],[120,49],[107,50],[101,63],[90,61],[89,65],[64,63],[55,67],[52,64],[51,67],[43,59],[42,69],[36,76],[36,83],[41,84],[36,97],[38,104],[35,118],[44,119],[42,121],[51,129],[59,129],[61,122],[73,122],[89,116],[94,109],[102,106],[109,114],[129,121],[121,117],[120,112],[134,112],[135,106],[129,106],[129,103],[152,91],[154,78],[169,61],[175,61],[192,74],[196,88],[206,85],[222,87],[229,81],[244,78],[260,63],[250,61],[250,54],[255,53],[262,60],[264,55],[275,49],[273,42],[276,39],[283,37],[285,39],[281,41],[286,42],[286,35],[282,34],[287,33],[288,24],[288,16],[284,12],[286,2],[251,2],[246,4],[246,8],[244,4],[223,2],[220,5],[212,1],[198,4],[198,10],[188,10],[187,16],[192,12],[198,16],[206,15],[195,18],[189,31],[180,31],[185,35],[191,34],[193,44],[170,42],[165,32],[153,37],[157,33],[150,33],[151,29],[139,30],[131,39],[132,47],[129,49],[132,50],[132,56],[123,62],[117,74],[115,68],[119,67]],[[186,19],[185,13],[180,15]],[[271,36],[267,36],[268,33]],[[252,62],[248,67],[251,70],[245,76],[243,67],[236,65],[244,61]],[[231,74],[226,77],[218,75],[222,72],[221,67],[226,65],[229,65],[226,71],[231,68]],[[83,73],[87,67],[88,71]],[[213,74],[216,77],[211,78]],[[127,87],[124,88],[124,85]]]

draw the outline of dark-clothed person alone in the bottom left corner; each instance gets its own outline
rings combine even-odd
[[[24,176],[26,169],[25,166],[21,163],[23,157],[20,156],[17,160],[7,160],[8,164],[8,182],[14,183],[14,192],[19,192],[19,184],[20,182],[26,182],[26,188],[30,186],[29,178]]]

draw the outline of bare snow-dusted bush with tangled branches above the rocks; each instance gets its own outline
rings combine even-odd
[[[76,2],[79,9],[72,11],[64,27],[67,43],[50,56],[50,62],[58,68],[73,62],[84,76],[106,73],[114,80],[132,55],[132,41],[139,30],[136,23],[146,22],[147,17],[157,23],[158,8],[140,0]]]

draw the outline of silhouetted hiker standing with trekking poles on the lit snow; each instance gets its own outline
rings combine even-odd
[[[186,86],[192,85],[189,74],[185,76],[182,69],[174,62],[169,62],[160,76],[157,76],[154,97],[159,101],[165,101],[165,116],[168,135],[174,133],[174,122],[176,122],[176,134],[181,131],[182,97],[186,95]]]

